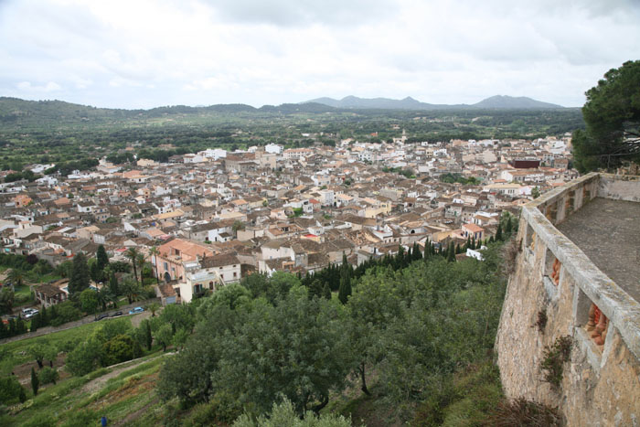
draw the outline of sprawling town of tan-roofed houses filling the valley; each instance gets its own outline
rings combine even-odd
[[[399,245],[484,240],[503,210],[517,213],[577,176],[570,149],[568,136],[446,144],[402,136],[209,149],[165,164],[102,160],[91,171],[0,185],[1,250],[55,266],[99,245],[112,261],[136,248],[154,265],[163,301],[188,302],[251,272],[304,274],[343,254],[356,265]],[[442,182],[446,174],[479,184]],[[63,285],[43,286],[43,304],[64,300]]]

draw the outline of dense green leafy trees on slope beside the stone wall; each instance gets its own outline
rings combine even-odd
[[[457,372],[485,363],[505,289],[499,246],[484,262],[433,255],[400,270],[370,268],[347,304],[311,294],[291,275],[252,275],[204,299],[158,392],[183,408],[214,408],[210,422],[231,422],[283,398],[299,415],[330,401],[337,410],[343,393],[359,388],[375,392],[390,422],[409,421]],[[484,378],[499,396],[495,374]]]

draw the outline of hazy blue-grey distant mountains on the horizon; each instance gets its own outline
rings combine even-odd
[[[526,96],[496,95],[475,104],[430,104],[414,100],[411,96],[403,100],[389,98],[358,98],[347,96],[341,100],[318,98],[301,103],[320,103],[334,108],[379,109],[379,110],[446,110],[446,109],[505,109],[505,110],[549,110],[564,108],[561,105],[532,100]]]

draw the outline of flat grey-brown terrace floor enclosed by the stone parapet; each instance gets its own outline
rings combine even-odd
[[[556,227],[640,302],[640,203],[596,197]]]

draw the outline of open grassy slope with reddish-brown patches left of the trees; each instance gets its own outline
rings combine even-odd
[[[125,317],[131,321],[130,317]],[[96,328],[111,322],[101,322],[59,331],[47,336],[27,338],[0,347],[3,354],[0,375],[9,375],[24,364],[33,364],[27,348],[43,342],[60,346],[69,340],[80,340]],[[122,318],[120,319],[122,321]],[[111,368],[101,368],[84,377],[67,375],[58,384],[41,386],[33,397],[27,385],[24,404],[9,408],[9,413],[0,415],[0,425],[98,425],[101,416],[106,416],[110,425],[157,425],[165,414],[155,395],[155,381],[163,358],[159,347],[144,358],[125,362]]]

